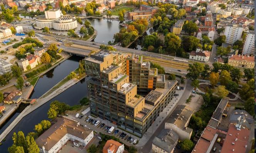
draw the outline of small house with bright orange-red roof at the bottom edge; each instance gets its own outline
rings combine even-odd
[[[125,145],[115,140],[108,140],[103,147],[103,153],[123,153]]]

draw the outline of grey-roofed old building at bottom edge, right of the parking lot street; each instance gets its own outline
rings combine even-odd
[[[179,136],[172,129],[163,129],[152,141],[152,153],[173,153]]]

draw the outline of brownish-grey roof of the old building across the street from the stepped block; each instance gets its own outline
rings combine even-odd
[[[178,105],[173,111],[172,115],[167,119],[167,123],[172,123],[180,129],[184,129],[186,123],[189,121],[193,114],[193,109],[185,105]]]

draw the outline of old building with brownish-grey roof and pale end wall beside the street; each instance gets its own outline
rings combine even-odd
[[[190,139],[193,129],[188,128],[193,110],[185,105],[178,105],[165,122],[165,129],[172,129],[180,140]]]

